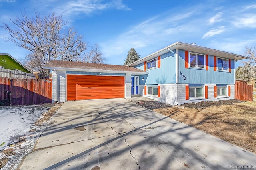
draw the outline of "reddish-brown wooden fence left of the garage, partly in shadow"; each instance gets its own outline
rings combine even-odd
[[[52,79],[0,77],[0,106],[52,103]]]

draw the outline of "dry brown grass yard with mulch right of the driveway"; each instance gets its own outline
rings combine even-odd
[[[256,102],[222,100],[183,104],[181,109],[150,101],[138,105],[256,153]]]

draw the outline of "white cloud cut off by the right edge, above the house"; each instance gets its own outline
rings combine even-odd
[[[246,14],[244,17],[236,18],[233,24],[240,28],[256,28],[256,14]]]

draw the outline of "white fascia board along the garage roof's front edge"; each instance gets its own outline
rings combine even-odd
[[[66,70],[66,71],[85,71],[85,72],[104,72],[104,73],[128,73],[134,75],[145,75],[148,72],[136,72],[136,71],[114,71],[114,70],[95,70],[95,69],[79,69],[79,68],[62,68],[62,67],[43,67],[44,69],[52,70]]]

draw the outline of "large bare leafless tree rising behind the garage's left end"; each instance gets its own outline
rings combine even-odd
[[[78,35],[73,28],[64,29],[67,22],[55,13],[40,16],[35,12],[33,18],[22,13],[21,18],[11,21],[15,28],[6,23],[1,26],[9,32],[10,36],[6,38],[29,50],[30,54],[26,56],[28,65],[31,64],[31,67],[38,69],[45,77],[50,70],[42,67],[51,59],[79,61],[80,55],[86,50],[87,44],[83,41],[83,36]]]

